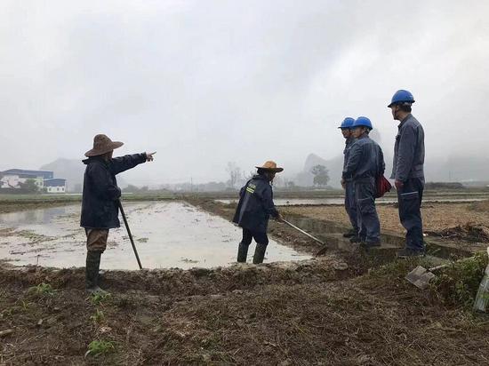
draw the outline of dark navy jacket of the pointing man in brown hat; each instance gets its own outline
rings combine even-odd
[[[146,154],[115,157],[106,162],[100,156],[83,161],[84,195],[80,226],[86,228],[120,227],[118,199],[121,189],[117,187],[116,174],[146,162]]]

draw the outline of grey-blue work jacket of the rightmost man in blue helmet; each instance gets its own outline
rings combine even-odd
[[[397,127],[390,178],[403,182],[410,178],[424,179],[424,131],[421,123],[410,114]]]

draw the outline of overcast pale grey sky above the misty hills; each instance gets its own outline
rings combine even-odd
[[[140,184],[341,154],[336,126],[413,92],[428,160],[487,155],[489,1],[0,3],[0,170],[82,158],[96,133],[156,150]]]

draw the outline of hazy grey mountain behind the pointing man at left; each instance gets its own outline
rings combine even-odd
[[[81,160],[60,158],[43,165],[40,170],[53,171],[54,178],[67,179],[68,192],[82,192],[85,166]],[[119,187],[127,187],[122,178],[117,178],[117,184]]]

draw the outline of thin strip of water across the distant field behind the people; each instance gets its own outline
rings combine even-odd
[[[471,203],[485,201],[486,198],[423,198],[423,203]],[[237,203],[237,199],[219,199],[219,203]],[[344,204],[343,197],[332,198],[275,198],[274,203],[277,206],[297,206],[301,204]],[[397,203],[397,199],[380,198],[375,200],[376,203]]]

